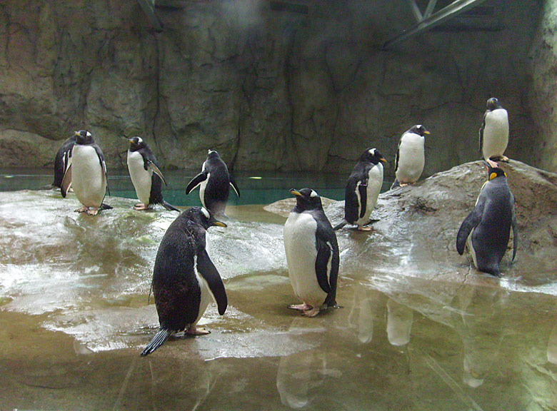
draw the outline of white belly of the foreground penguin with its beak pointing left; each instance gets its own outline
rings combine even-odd
[[[290,213],[284,225],[284,249],[294,294],[304,303],[319,307],[327,294],[317,282],[315,263],[317,222],[308,213]]]

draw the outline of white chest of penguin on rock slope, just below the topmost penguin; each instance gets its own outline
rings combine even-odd
[[[399,183],[415,183],[426,163],[425,138],[416,133],[405,133],[398,148],[396,178]]]

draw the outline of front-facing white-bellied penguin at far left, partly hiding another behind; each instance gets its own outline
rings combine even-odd
[[[99,209],[111,208],[103,204],[108,188],[104,156],[89,131],[76,131],[75,136],[76,143],[71,149],[71,164],[62,179],[62,197],[66,197],[71,186],[83,205],[76,212],[96,215]]]

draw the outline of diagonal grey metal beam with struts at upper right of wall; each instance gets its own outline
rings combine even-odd
[[[410,29],[403,31],[401,34],[385,41],[385,43],[383,43],[383,50],[390,49],[392,46],[403,40],[417,36],[429,29],[433,29],[433,27],[451,19],[451,17],[458,16],[458,14],[462,14],[464,11],[468,11],[475,6],[479,6],[485,1],[486,0],[456,0],[448,6],[443,7],[443,9],[436,11],[436,13],[433,13],[437,0],[429,0],[426,11],[422,15],[420,9],[418,8],[418,4],[416,4],[416,0],[408,0],[412,13],[416,17],[418,23]]]

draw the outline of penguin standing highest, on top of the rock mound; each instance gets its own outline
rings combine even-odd
[[[495,97],[487,101],[479,137],[481,155],[491,167],[497,167],[495,161],[508,162],[503,156],[508,144],[508,113]]]

